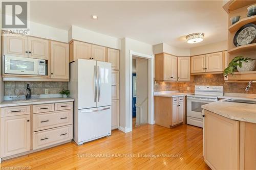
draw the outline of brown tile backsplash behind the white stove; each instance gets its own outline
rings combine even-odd
[[[179,90],[180,92],[194,92],[195,85],[224,86],[224,92],[256,94],[256,84],[252,83],[249,91],[245,91],[248,83],[225,83],[222,74],[206,74],[193,76],[193,82],[187,83],[157,83],[154,91]],[[189,87],[189,89],[187,89]]]

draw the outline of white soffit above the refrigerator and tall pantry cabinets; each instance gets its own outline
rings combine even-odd
[[[72,38],[92,44],[120,49],[120,39],[108,35],[100,34],[91,30],[86,30],[77,26],[72,26]],[[70,36],[69,36],[70,39]]]

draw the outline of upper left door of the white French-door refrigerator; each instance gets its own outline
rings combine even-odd
[[[78,109],[97,107],[96,63],[93,60],[78,59]]]

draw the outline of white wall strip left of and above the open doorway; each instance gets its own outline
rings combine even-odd
[[[120,127],[130,130],[130,50],[153,55],[153,46],[130,38],[121,39],[120,50]]]

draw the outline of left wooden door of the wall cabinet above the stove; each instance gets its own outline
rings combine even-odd
[[[191,73],[205,72],[205,55],[191,57]]]

